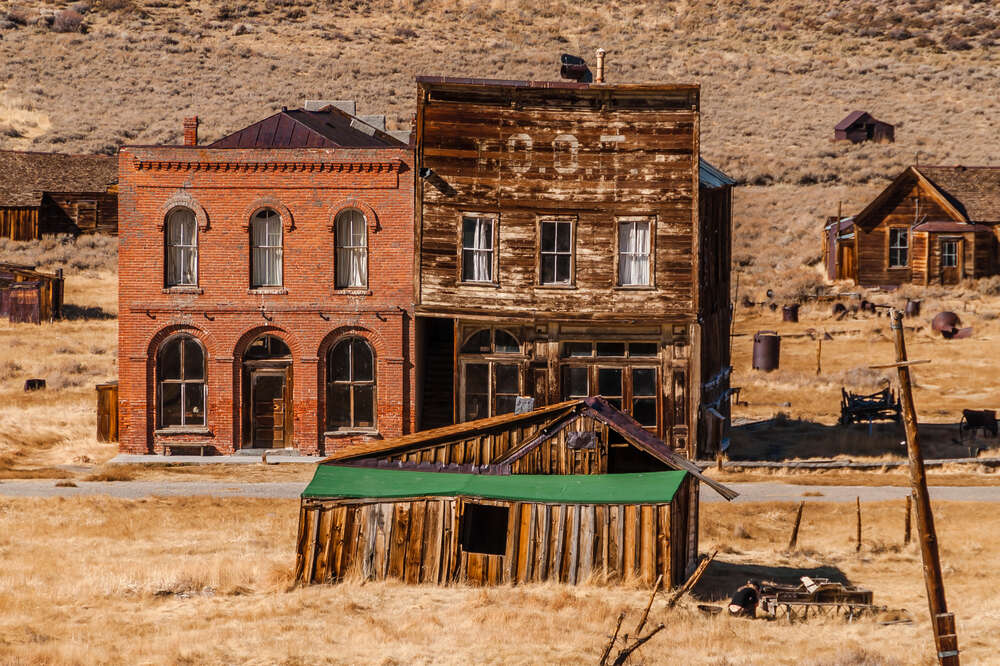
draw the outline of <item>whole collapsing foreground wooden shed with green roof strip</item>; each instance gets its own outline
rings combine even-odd
[[[370,442],[303,493],[295,577],[675,584],[699,481],[736,496],[602,398]]]

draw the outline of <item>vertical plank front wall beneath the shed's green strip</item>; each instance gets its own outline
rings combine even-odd
[[[470,504],[507,509],[503,554],[468,552],[461,546],[457,533]],[[674,552],[679,543],[676,513],[669,503],[305,500],[296,580],[326,583],[354,577],[469,585],[634,581],[651,586],[662,574],[666,584],[674,585],[683,574]]]

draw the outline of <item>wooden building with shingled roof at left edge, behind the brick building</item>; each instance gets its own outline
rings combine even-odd
[[[0,151],[0,237],[118,233],[118,160]]]

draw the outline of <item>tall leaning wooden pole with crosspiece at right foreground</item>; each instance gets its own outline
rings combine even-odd
[[[941,577],[941,559],[938,555],[934,515],[927,492],[927,475],[924,472],[924,455],[920,450],[920,433],[917,431],[917,411],[913,405],[913,385],[910,382],[909,362],[906,358],[906,340],[903,337],[903,313],[892,311],[892,331],[896,342],[896,370],[899,373],[899,394],[903,408],[903,425],[906,428],[906,448],[910,458],[910,483],[916,504],[917,538],[920,557],[924,564],[924,582],[927,585],[927,604],[930,607],[931,626],[937,647],[938,663],[957,666],[958,636],[955,616],[948,612]]]

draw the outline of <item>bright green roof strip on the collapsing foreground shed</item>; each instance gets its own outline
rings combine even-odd
[[[670,471],[495,476],[319,465],[302,497],[393,499],[463,495],[523,502],[662,503],[673,500],[685,474],[687,472]]]

